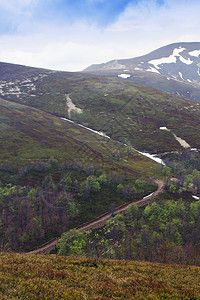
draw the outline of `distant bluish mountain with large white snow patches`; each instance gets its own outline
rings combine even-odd
[[[84,71],[124,78],[200,100],[200,42],[174,43],[147,55],[92,65]]]

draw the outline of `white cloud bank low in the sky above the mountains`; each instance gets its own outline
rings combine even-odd
[[[23,8],[36,2],[18,3]],[[166,0],[164,5],[140,1],[105,28],[86,21],[25,18],[17,33],[0,37],[0,61],[77,71],[93,63],[143,55],[169,43],[200,40],[199,11],[199,1]]]

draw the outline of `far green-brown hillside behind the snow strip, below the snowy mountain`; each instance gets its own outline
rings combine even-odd
[[[181,149],[172,133],[159,130],[167,126],[192,147],[200,148],[200,109],[195,100],[123,79],[83,73],[53,72],[34,85],[32,91],[24,86],[25,94],[20,97],[4,97],[66,117],[65,94],[70,93],[84,111],[72,118],[114,139],[127,138],[136,148],[151,152]]]

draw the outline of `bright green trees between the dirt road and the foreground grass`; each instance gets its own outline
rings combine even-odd
[[[131,204],[99,230],[63,234],[59,255],[200,265],[200,201]]]

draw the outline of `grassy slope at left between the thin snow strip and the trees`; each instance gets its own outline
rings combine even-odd
[[[123,145],[25,105],[0,99],[0,128],[0,165],[22,166],[54,157],[60,162],[77,159],[106,171],[159,176],[158,164],[136,152],[127,156]],[[124,159],[113,161],[114,150],[122,151]]]

